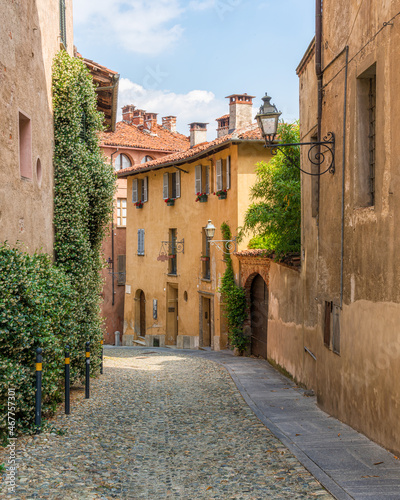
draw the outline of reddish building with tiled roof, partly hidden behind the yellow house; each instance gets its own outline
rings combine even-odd
[[[177,151],[189,148],[189,139],[176,132],[176,117],[162,118],[157,123],[156,113],[146,113],[134,105],[122,108],[122,121],[115,130],[102,135],[102,150],[115,172],[133,166],[144,165]],[[121,340],[124,321],[125,275],[126,275],[126,221],[127,181],[117,179],[117,192],[113,223],[109,236],[103,243],[103,253],[109,262],[103,272],[102,315],[105,319],[106,344]],[[120,336],[115,335],[119,332]]]

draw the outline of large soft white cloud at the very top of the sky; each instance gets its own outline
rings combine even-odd
[[[74,22],[92,36],[108,38],[125,50],[158,54],[182,36],[177,22],[179,0],[80,0],[74,4]]]

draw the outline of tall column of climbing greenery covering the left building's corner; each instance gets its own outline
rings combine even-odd
[[[80,59],[60,51],[53,65],[55,128],[54,227],[56,265],[71,279],[79,301],[74,312],[79,345],[92,345],[99,368],[101,242],[111,221],[115,174],[99,148],[102,115],[92,78]],[[71,365],[84,370],[84,349]]]

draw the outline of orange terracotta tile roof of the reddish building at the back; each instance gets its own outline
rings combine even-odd
[[[128,148],[149,149],[171,153],[182,151],[190,146],[189,138],[178,132],[170,132],[161,125],[156,125],[155,133],[150,134],[143,127],[118,122],[115,132],[101,134],[102,146],[124,146]]]

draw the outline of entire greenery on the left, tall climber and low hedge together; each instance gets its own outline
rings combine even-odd
[[[8,390],[15,390],[16,431],[34,421],[35,350],[43,350],[43,415],[63,397],[64,349],[70,346],[71,381],[100,366],[100,252],[111,220],[115,174],[99,148],[102,116],[92,78],[61,51],[53,64],[55,130],[55,263],[0,247],[0,440],[7,437]]]

